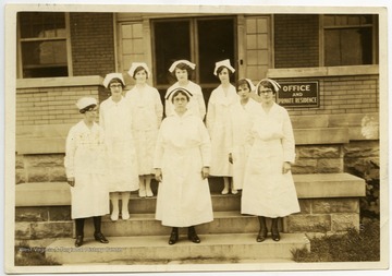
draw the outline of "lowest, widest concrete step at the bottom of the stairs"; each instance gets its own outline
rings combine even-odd
[[[196,244],[180,236],[174,245],[169,245],[169,236],[110,237],[102,244],[86,237],[81,248],[74,239],[60,239],[46,248],[46,257],[60,264],[107,264],[154,262],[155,264],[181,263],[233,263],[241,260],[291,260],[293,249],[310,250],[309,240],[303,233],[282,233],[279,242],[268,238],[256,242],[256,233],[199,235]],[[253,261],[252,261],[253,260]]]

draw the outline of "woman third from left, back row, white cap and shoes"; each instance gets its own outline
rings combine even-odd
[[[128,74],[136,81],[135,86],[125,94],[132,109],[132,133],[135,140],[140,197],[154,196],[154,152],[159,125],[162,121],[163,106],[159,92],[147,84],[151,73],[144,62],[133,62]]]

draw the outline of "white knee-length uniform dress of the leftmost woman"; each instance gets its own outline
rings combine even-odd
[[[102,128],[88,128],[79,121],[71,128],[65,144],[64,166],[71,187],[71,217],[84,218],[109,214],[106,176],[106,144]]]

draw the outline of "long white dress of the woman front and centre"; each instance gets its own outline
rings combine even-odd
[[[206,127],[189,111],[162,121],[154,166],[162,169],[156,212],[162,225],[188,227],[213,220],[208,180],[201,178],[201,168],[210,165],[210,149]]]

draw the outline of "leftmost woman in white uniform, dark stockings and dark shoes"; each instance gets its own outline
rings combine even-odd
[[[109,214],[106,179],[106,144],[103,130],[95,122],[97,100],[83,97],[76,106],[83,120],[71,128],[65,144],[64,166],[71,187],[71,217],[75,219],[75,247],[83,244],[84,223],[93,217],[94,239],[108,243],[102,235],[101,216]]]

